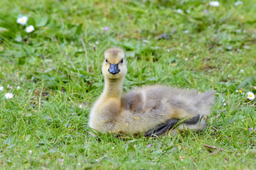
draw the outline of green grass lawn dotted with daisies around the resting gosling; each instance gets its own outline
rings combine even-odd
[[[256,3],[234,3],[1,0],[0,169],[255,169],[256,100],[246,92],[256,91]],[[16,23],[19,15],[32,33]],[[102,52],[116,46],[127,52],[124,91],[144,84],[217,91],[206,130],[88,136],[103,88]]]

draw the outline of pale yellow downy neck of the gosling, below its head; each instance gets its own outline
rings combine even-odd
[[[105,78],[105,86],[102,94],[103,98],[121,98],[123,81],[124,81],[124,78],[121,78],[121,79]]]

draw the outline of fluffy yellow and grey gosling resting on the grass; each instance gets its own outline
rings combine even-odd
[[[193,125],[183,123],[179,125],[179,130],[187,128],[199,130],[206,126],[206,118],[214,102],[213,91],[198,95],[196,91],[168,86],[145,86],[122,96],[127,67],[124,52],[118,48],[105,52],[102,72],[105,75],[105,88],[92,107],[90,128],[99,132],[138,135],[150,132],[171,119],[191,119],[198,114],[201,121],[196,121]],[[171,133],[177,132],[177,130],[171,131]]]

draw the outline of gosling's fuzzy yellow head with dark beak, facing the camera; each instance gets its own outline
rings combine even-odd
[[[102,72],[107,79],[120,79],[127,74],[127,65],[122,49],[110,48],[105,51],[104,57]]]

